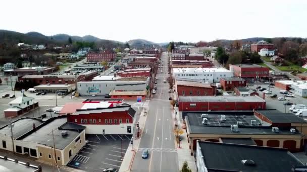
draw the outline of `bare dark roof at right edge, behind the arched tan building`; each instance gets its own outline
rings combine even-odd
[[[277,110],[257,110],[256,112],[263,114],[273,123],[307,123],[292,113],[282,113]]]

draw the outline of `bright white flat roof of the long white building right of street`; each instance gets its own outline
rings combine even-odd
[[[174,73],[231,72],[223,67],[174,68]]]

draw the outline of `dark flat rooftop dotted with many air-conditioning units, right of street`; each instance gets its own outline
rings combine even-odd
[[[225,115],[226,121],[221,121],[221,115],[212,114],[208,119],[208,124],[202,124],[201,113],[187,113],[185,119],[187,121],[187,128],[190,129],[191,134],[259,134],[259,135],[302,135],[298,131],[290,132],[290,128],[279,128],[279,132],[273,132],[271,127],[264,127],[261,121],[253,115]],[[256,125],[251,124],[251,120],[256,120]],[[237,125],[237,122],[242,122],[239,125],[239,131],[231,131],[231,125]]]

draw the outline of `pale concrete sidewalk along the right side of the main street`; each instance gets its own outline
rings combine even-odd
[[[176,98],[175,93],[174,93],[174,98]],[[175,112],[177,112],[177,115],[175,114]],[[172,116],[173,116],[174,121],[175,121],[175,118],[177,118],[177,123],[181,127],[182,122],[181,122],[181,119],[179,117],[180,113],[179,113],[178,107],[175,107],[175,109],[172,113],[173,113]],[[188,140],[187,140],[187,137],[186,137],[186,132],[185,132],[184,129],[182,129],[182,130],[183,130],[183,134],[180,135],[180,137],[182,138],[182,140],[180,141],[180,147],[179,147],[179,145],[177,145],[179,170],[181,169],[183,162],[187,161],[189,168],[192,171],[196,171],[196,162],[195,162],[194,156],[191,156],[190,149],[189,149],[189,143],[188,143]]]

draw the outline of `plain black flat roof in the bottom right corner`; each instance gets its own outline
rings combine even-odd
[[[303,165],[284,148],[199,141],[208,171],[288,172],[292,166]],[[253,160],[245,165],[241,160]]]

